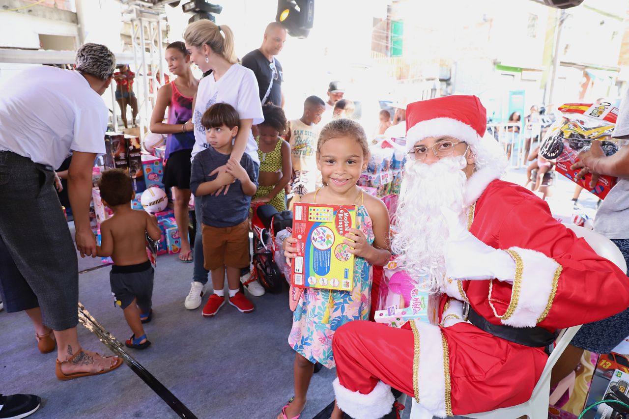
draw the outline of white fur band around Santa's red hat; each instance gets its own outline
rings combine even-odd
[[[416,123],[406,131],[406,151],[411,151],[415,143],[426,137],[448,137],[457,138],[469,145],[477,144],[480,137],[471,126],[453,118],[435,118]]]

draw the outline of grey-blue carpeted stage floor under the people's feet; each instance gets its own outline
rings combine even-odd
[[[506,179],[521,184],[524,174],[523,169],[509,170]],[[561,176],[557,179],[554,200],[569,202],[574,184]],[[590,210],[596,206],[596,198],[587,192],[579,201]],[[131,331],[122,310],[114,306],[109,267],[100,259],[79,258],[79,271],[79,301],[124,342]],[[152,345],[142,351],[125,350],[198,418],[275,418],[293,394],[287,292],[252,297],[256,310],[250,314],[225,304],[215,318],[203,318],[203,306],[184,308],[191,277],[192,264],[182,264],[177,255],[158,258],[154,318],[145,328]],[[108,352],[82,325],[78,330],[84,347]],[[177,417],[126,365],[103,376],[58,381],[55,354],[37,350],[25,313],[0,312],[0,331],[0,392],[41,396],[42,407],[33,418]],[[334,378],[335,372],[325,368],[313,376],[303,419],[317,416],[333,401]],[[410,401],[403,413],[408,418]]]

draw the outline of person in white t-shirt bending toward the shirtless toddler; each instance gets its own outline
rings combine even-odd
[[[96,257],[92,167],[105,152],[108,109],[101,95],[115,67],[107,47],[87,43],[77,51],[75,71],[33,67],[0,87],[0,293],[7,311],[26,310],[33,320],[40,351],[52,352],[56,340],[60,380],[122,364],[79,345],[77,255],[53,186],[53,170],[72,150],[76,247],[81,257]]]

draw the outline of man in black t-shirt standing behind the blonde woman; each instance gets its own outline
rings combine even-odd
[[[242,65],[251,69],[260,88],[260,102],[284,108],[282,65],[276,59],[286,42],[286,29],[278,22],[267,25],[262,46],[242,58]]]

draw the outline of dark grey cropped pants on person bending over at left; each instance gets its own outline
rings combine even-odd
[[[79,271],[52,167],[0,151],[0,288],[7,311],[40,306],[43,323],[65,330],[79,323]]]

